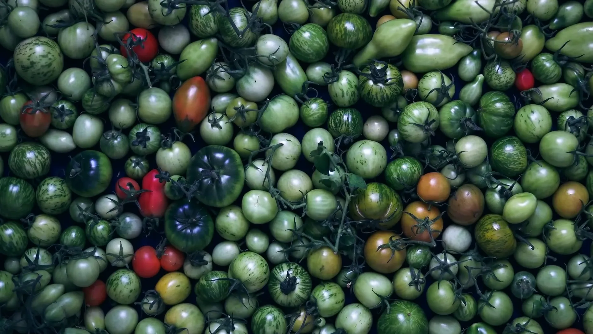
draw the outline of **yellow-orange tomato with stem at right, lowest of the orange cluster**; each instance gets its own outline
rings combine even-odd
[[[366,264],[378,273],[394,273],[401,268],[406,260],[406,248],[403,250],[392,250],[379,246],[389,244],[390,239],[401,239],[399,235],[391,231],[377,231],[369,236],[365,242],[364,256]]]

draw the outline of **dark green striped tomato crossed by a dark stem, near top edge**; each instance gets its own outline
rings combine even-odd
[[[253,30],[253,25],[248,29],[246,28],[253,14],[244,8],[234,7],[228,10],[227,15],[227,19],[218,20],[218,30],[222,36],[222,40],[232,48],[252,46],[257,40],[257,33]],[[241,36],[237,34],[235,28],[231,25],[231,21],[239,31],[243,32]]]

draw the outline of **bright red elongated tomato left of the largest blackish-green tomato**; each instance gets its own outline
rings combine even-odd
[[[152,169],[144,178],[142,178],[142,189],[149,190],[140,194],[138,204],[140,204],[140,213],[146,218],[158,218],[165,215],[165,210],[169,205],[169,200],[165,196],[165,184],[157,177],[157,169]]]

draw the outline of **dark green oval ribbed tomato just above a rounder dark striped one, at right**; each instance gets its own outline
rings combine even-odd
[[[515,104],[502,92],[487,92],[480,98],[478,121],[488,137],[499,138],[511,130]]]

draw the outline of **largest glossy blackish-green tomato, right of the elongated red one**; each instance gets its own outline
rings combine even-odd
[[[209,175],[209,177],[203,177]],[[241,157],[232,149],[210,145],[192,157],[187,181],[197,182],[197,199],[208,206],[225,207],[241,194],[245,171]]]

